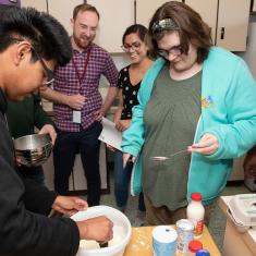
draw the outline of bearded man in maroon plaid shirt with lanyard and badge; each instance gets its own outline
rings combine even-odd
[[[65,195],[75,154],[81,153],[87,179],[89,206],[100,199],[99,141],[101,119],[117,95],[118,70],[109,53],[93,40],[99,22],[95,7],[80,4],[74,8],[72,26],[72,60],[54,74],[53,89],[46,88],[42,97],[52,100],[58,138],[53,150],[54,188]],[[100,75],[109,84],[105,102],[98,90]]]

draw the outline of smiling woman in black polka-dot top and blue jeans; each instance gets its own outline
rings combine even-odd
[[[119,72],[119,108],[114,114],[117,130],[125,131],[131,123],[132,108],[138,103],[137,92],[141,82],[153,60],[148,46],[148,31],[141,24],[135,24],[126,28],[122,38],[122,49],[131,60],[131,64]],[[129,162],[123,168],[122,153],[117,151],[114,155],[114,195],[118,207],[124,211],[129,198],[129,184],[133,164]],[[145,212],[143,193],[138,197],[138,217]]]

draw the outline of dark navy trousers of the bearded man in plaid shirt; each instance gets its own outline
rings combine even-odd
[[[75,155],[81,154],[84,173],[87,180],[87,203],[99,205],[99,134],[102,125],[93,123],[80,132],[63,132],[57,130],[58,136],[53,148],[54,188],[61,195],[69,194],[69,178],[74,167]]]

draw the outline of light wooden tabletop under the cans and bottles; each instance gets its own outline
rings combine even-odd
[[[151,231],[154,227],[141,227],[132,229],[132,239],[125,248],[123,256],[153,256]],[[204,248],[210,252],[210,256],[221,256],[208,229],[205,227],[199,239]]]

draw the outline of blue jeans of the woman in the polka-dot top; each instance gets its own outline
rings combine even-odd
[[[133,163],[127,162],[123,169],[123,154],[114,153],[114,196],[118,207],[124,208],[127,204],[130,179],[133,169]],[[138,210],[145,211],[143,193],[138,197]]]

